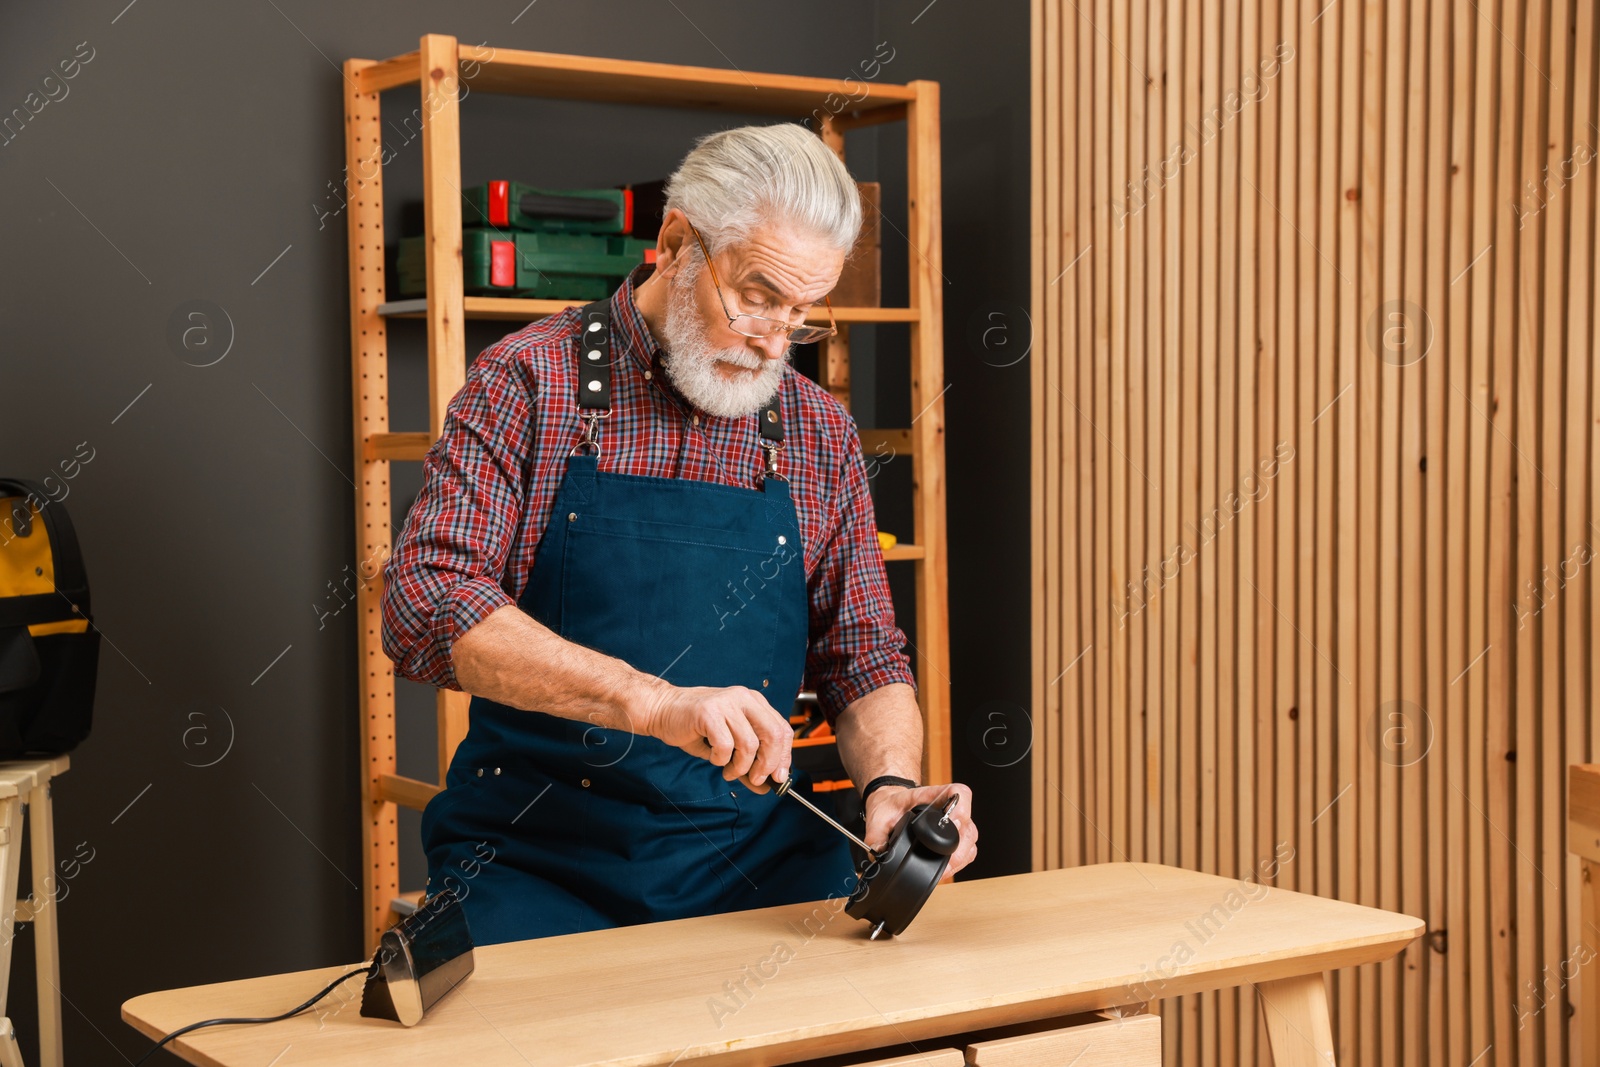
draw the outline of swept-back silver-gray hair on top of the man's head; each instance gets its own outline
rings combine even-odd
[[[666,197],[666,208],[683,211],[712,251],[778,221],[850,253],[861,229],[861,194],[850,171],[819,136],[795,123],[701,138],[667,179]]]

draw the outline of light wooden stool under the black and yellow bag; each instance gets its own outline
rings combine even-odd
[[[56,827],[51,817],[50,779],[66,774],[67,757],[54,760],[16,760],[0,763],[0,915],[11,921],[0,928],[0,1064],[22,1067],[16,1033],[5,1011],[11,992],[11,941],[16,925],[32,921],[38,974],[38,1062],[61,1067],[61,947],[58,942],[54,877]],[[29,809],[29,845],[34,857],[34,886],[29,899],[18,905],[18,880],[22,873],[22,808]]]

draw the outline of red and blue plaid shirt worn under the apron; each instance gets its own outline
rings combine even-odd
[[[755,486],[755,414],[709,416],[661,370],[634,286],[611,296],[611,416],[602,469]],[[400,677],[459,689],[454,640],[514,605],[533,566],[566,456],[581,434],[578,309],[502,338],[467,373],[422,462],[422,493],[384,565],[382,643]],[[805,678],[829,721],[891,681],[915,685],[894,624],[854,419],[827,390],[784,368],[779,470],[805,541],[810,643]],[[787,710],[787,709],[784,709]]]

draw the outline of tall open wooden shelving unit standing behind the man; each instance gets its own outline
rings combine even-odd
[[[464,75],[466,72],[466,75]],[[382,565],[392,549],[389,464],[419,461],[443,429],[445,408],[466,381],[467,318],[531,322],[568,301],[464,296],[461,272],[461,78],[474,93],[510,93],[653,107],[824,115],[819,134],[843,155],[856,126],[906,123],[910,306],[835,309],[842,328],[819,352],[821,384],[850,403],[850,323],[907,323],[910,328],[910,427],[861,430],[867,454],[909,456],[914,472],[914,530],[886,560],[915,568],[917,643],[912,662],[926,726],[923,781],[950,776],[949,621],[944,544],[944,326],[939,234],[939,86],[803,78],[781,74],[682,67],[658,62],[560,56],[459,45],[430,34],[418,51],[384,61],[344,64],[347,229],[350,245],[350,350],[355,410],[357,558],[362,720],[362,849],[366,950],[395,920],[400,894],[398,805],[421,809],[440,784],[403,777],[395,766],[394,665],[382,651],[379,600]],[[384,190],[379,94],[418,86],[422,102],[422,195],[427,229],[427,298],[386,302]],[[843,101],[835,107],[835,101]],[[835,112],[837,114],[829,114]],[[429,426],[389,427],[389,320],[426,322]],[[438,693],[438,782],[467,731],[467,694]]]

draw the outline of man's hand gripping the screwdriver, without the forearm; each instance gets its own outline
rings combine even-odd
[[[725,781],[744,779],[755,792],[789,777],[794,729],[755,689],[662,683],[645,712],[643,733],[722,768]]]

